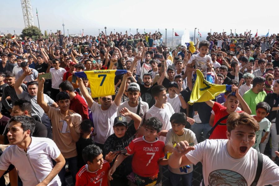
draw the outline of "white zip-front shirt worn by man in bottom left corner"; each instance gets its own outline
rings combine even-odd
[[[7,170],[13,164],[18,171],[23,185],[37,185],[53,169],[52,159],[57,159],[61,152],[57,145],[48,138],[32,137],[27,153],[17,145],[5,149],[0,157],[0,170]],[[61,185],[56,175],[48,185]]]

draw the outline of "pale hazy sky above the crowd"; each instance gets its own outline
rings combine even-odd
[[[244,33],[251,30],[254,35],[279,33],[279,1],[254,0],[30,0],[33,7],[34,24],[38,26],[36,8],[42,33],[45,30],[65,34],[79,34],[84,29],[85,35],[98,35],[100,31],[154,33],[160,30],[167,37],[172,36],[172,29],[182,35],[188,29],[190,36],[194,28],[204,36],[210,32]],[[272,5],[272,6],[269,6]],[[20,0],[1,0],[1,33],[20,34],[24,28],[23,12]],[[197,35],[196,30],[196,35]]]

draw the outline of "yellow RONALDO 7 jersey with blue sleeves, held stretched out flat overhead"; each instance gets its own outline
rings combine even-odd
[[[127,70],[92,70],[76,72],[79,78],[87,78],[90,82],[91,97],[114,95],[114,78],[117,75],[125,74]]]

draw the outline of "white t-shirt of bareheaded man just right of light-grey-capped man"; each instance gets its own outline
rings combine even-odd
[[[169,103],[166,103],[164,106],[164,108],[158,108],[153,105],[145,115],[145,119],[148,119],[149,117],[157,117],[163,124],[163,127],[161,129],[162,131],[171,129],[170,117],[175,113]],[[164,136],[159,136],[158,138],[163,141],[166,140],[166,137]]]

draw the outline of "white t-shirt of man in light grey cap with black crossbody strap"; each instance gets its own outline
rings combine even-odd
[[[129,104],[128,104],[129,101],[125,101],[124,103],[122,103],[121,105],[119,105],[118,107],[118,115],[121,116],[121,114],[119,113],[119,111],[126,107],[128,108],[132,113],[137,113],[137,110],[138,110],[138,105],[135,106],[135,107],[131,107]],[[140,101],[140,109],[139,109],[139,116],[141,117],[141,123],[143,122],[144,120],[144,114],[148,111],[149,107],[148,107],[148,104],[144,101]],[[126,120],[127,120],[127,123],[130,123],[132,118],[129,117],[129,116],[125,116],[126,117]]]

